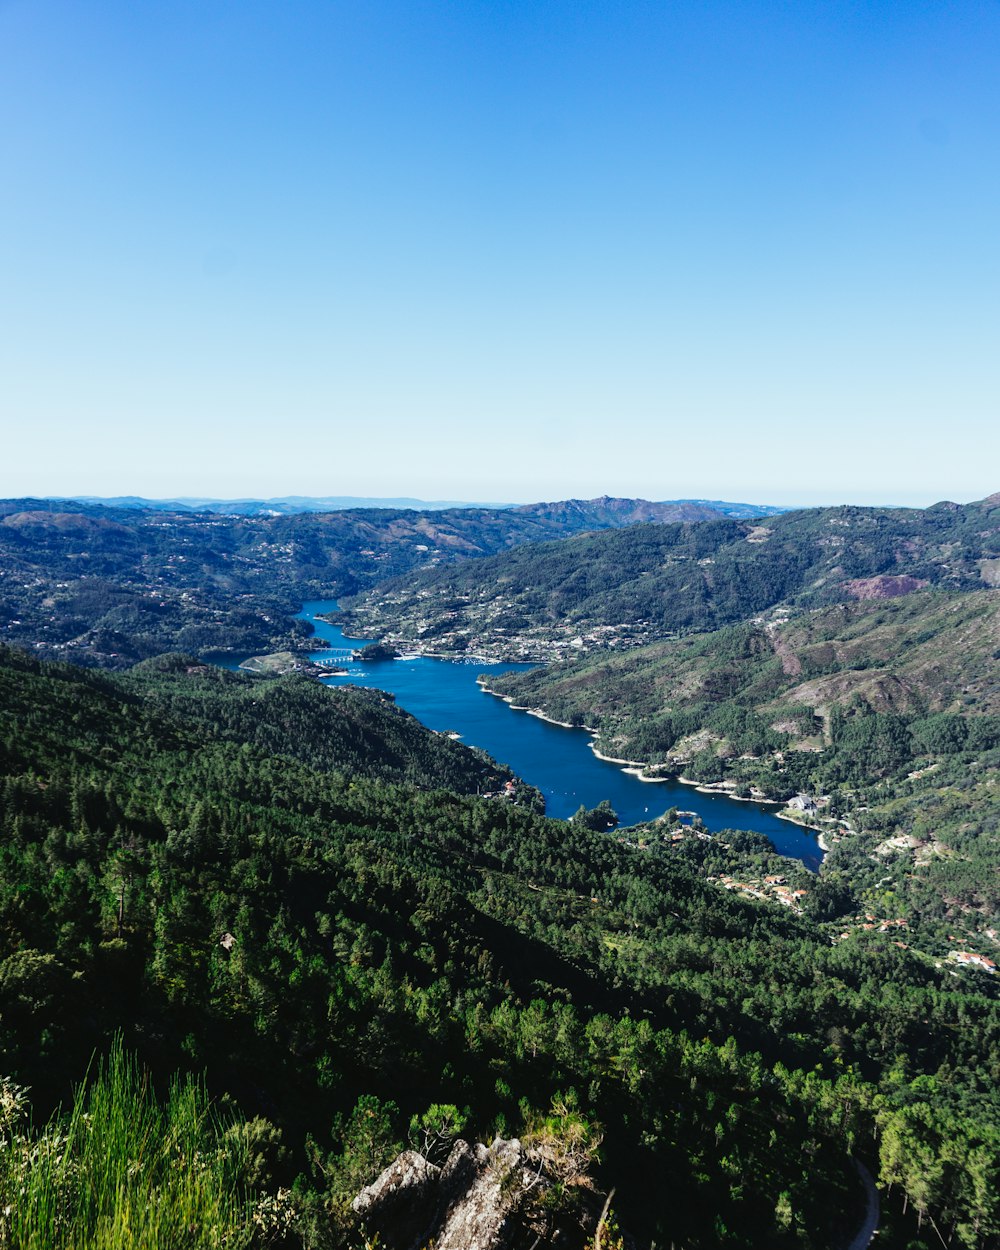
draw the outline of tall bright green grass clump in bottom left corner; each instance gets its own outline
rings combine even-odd
[[[26,1125],[24,1091],[0,1091],[4,1250],[242,1250],[255,1241],[238,1132],[204,1085],[175,1079],[164,1104],[115,1045],[69,1115]]]

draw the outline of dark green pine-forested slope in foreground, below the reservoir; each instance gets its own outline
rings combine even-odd
[[[248,1122],[250,1198],[294,1181],[289,1245],[351,1244],[346,1200],[431,1104],[489,1139],[556,1095],[602,1125],[640,1245],[829,1250],[860,1218],[851,1154],[894,1186],[884,1244],[930,1220],[995,1244],[991,978],[878,930],[831,944],[656,826],[415,789],[482,761],[391,708],[384,766],[341,766],[356,698],[0,654],[0,1064],[38,1116],[116,1034],[160,1088],[204,1069]]]

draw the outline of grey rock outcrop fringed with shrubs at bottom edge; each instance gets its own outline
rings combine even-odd
[[[442,1168],[404,1151],[351,1205],[385,1250],[584,1246],[596,1226],[592,1192],[560,1216],[539,1201],[550,1186],[542,1161],[516,1139],[456,1141]]]

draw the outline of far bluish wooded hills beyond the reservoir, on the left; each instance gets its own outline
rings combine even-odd
[[[288,516],[4,500],[0,640],[104,668],[171,650],[275,651],[302,644],[289,618],[304,599],[581,530],[718,515],[632,499]]]

